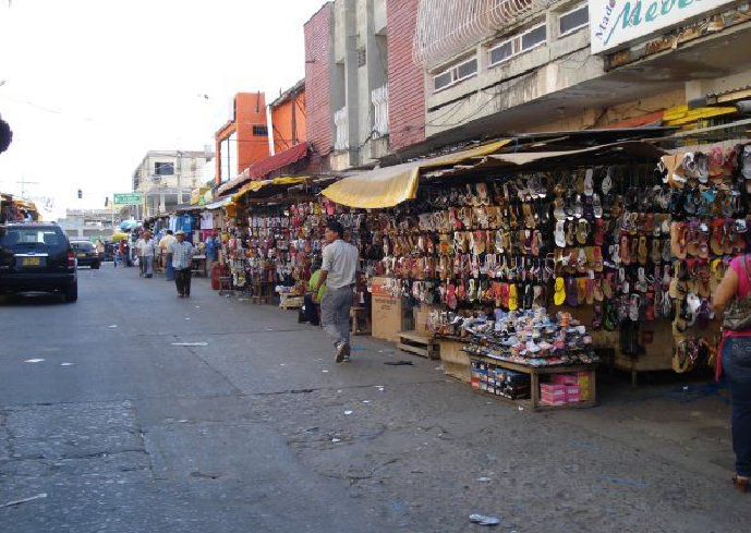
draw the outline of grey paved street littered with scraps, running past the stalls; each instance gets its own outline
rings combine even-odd
[[[615,386],[533,414],[371,339],[337,365],[294,313],[194,283],[180,300],[105,266],[76,304],[0,303],[0,506],[47,495],[0,507],[0,531],[748,528],[723,390]]]

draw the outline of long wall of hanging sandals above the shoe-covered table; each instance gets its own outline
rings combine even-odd
[[[673,334],[673,367],[687,372],[713,364],[712,294],[747,250],[750,191],[743,146],[424,186],[368,215],[370,264],[395,295],[440,304],[437,335],[493,308],[565,308],[632,356]]]

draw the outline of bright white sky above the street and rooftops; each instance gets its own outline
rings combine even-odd
[[[150,149],[213,147],[232,95],[271,101],[304,77],[303,24],[324,3],[0,0],[0,116],[13,130],[0,191],[24,181],[26,196],[52,199],[52,219],[130,191]]]

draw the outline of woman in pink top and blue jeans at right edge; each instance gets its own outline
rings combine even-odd
[[[715,292],[713,307],[725,311],[716,365],[717,376],[725,374],[732,402],[732,450],[736,453],[732,483],[748,493],[751,492],[751,254],[730,262]]]

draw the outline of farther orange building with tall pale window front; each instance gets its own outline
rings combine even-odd
[[[215,134],[217,186],[269,156],[264,93],[238,93],[233,108],[232,119]]]

